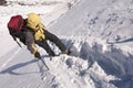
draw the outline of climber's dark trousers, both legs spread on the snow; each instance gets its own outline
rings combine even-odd
[[[59,37],[55,36],[54,34],[52,34],[52,33],[50,33],[48,31],[44,31],[44,35],[45,35],[45,40],[43,40],[43,41],[35,41],[35,44],[38,44],[39,46],[43,47],[50,56],[55,56],[55,54],[50,48],[49,44],[47,43],[47,40],[53,42],[60,48],[61,52],[66,50],[66,47],[61,42],[61,40],[59,40]]]

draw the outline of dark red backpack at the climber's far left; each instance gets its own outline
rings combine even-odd
[[[24,22],[24,19],[20,14],[11,16],[10,21],[8,22],[9,31],[11,33],[21,32],[23,22]]]

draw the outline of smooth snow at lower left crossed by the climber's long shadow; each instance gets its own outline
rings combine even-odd
[[[47,74],[49,78],[43,81],[40,74],[37,61],[30,52],[21,48],[0,70],[0,88],[53,88],[55,86],[54,76]]]

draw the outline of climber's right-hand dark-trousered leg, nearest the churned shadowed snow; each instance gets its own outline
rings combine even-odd
[[[50,33],[48,31],[44,31],[44,35],[45,35],[45,40],[50,40],[51,42],[53,42],[61,50],[61,52],[66,51],[66,47],[61,42],[61,40],[59,40],[58,36],[55,36],[54,34],[52,34],[52,33]]]

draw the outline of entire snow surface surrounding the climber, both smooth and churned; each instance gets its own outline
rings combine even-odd
[[[0,6],[0,88],[132,88],[132,0],[7,0]],[[37,62],[8,33],[11,15],[41,14],[42,22],[75,56]],[[59,48],[51,48],[58,54]],[[76,50],[76,52],[75,52]]]

